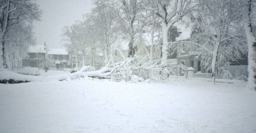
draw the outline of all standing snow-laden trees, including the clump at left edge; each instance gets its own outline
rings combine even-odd
[[[1,67],[20,67],[26,48],[34,43],[31,23],[40,16],[41,11],[32,0],[0,1]],[[198,58],[211,69],[214,83],[218,67],[227,59],[248,55],[249,81],[255,88],[253,0],[93,0],[92,11],[83,17],[83,21],[63,30],[67,50],[75,58],[81,53],[83,66],[85,55],[93,58],[93,64],[102,66],[116,63],[116,52],[124,59],[134,58],[139,53],[136,42],[146,32],[150,40],[148,55],[133,61],[140,68],[157,66],[161,74],[168,73],[170,50],[199,51]],[[192,25],[191,37],[170,41],[170,29],[179,22]],[[121,46],[123,40],[127,42],[125,46]],[[156,44],[161,47],[160,58],[154,58],[152,50]],[[127,55],[123,52],[126,49]],[[97,59],[97,55],[103,59]]]

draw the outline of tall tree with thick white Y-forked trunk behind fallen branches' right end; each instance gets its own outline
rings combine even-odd
[[[154,11],[161,19],[163,33],[163,58],[161,64],[166,65],[168,59],[168,32],[169,29],[192,9],[197,6],[194,0],[148,0],[146,9]]]

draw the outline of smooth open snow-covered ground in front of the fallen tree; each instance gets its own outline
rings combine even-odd
[[[0,84],[0,133],[253,133],[256,91],[245,86],[183,78]]]

